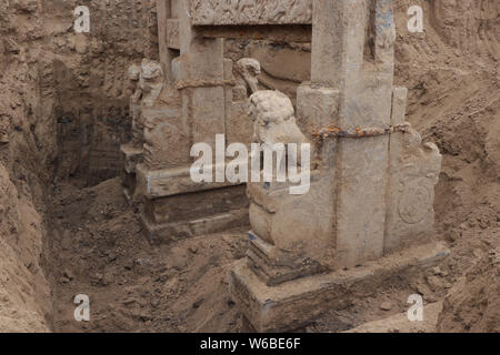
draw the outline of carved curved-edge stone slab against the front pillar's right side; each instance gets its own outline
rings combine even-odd
[[[407,89],[394,88],[393,125],[404,123]],[[422,243],[433,235],[434,186],[439,181],[442,156],[432,143],[411,128],[390,138],[390,187],[386,220],[384,252]]]

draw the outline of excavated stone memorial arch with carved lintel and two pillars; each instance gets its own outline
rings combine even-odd
[[[144,144],[136,160],[142,162],[128,159],[126,171],[144,197],[151,241],[250,220],[248,255],[229,285],[249,328],[301,328],[367,284],[404,277],[449,254],[432,241],[441,155],[404,122],[407,90],[393,82],[392,6],[158,1],[163,88],[152,104],[142,99]],[[240,129],[249,121],[248,88],[236,84],[223,38],[311,41],[311,81],[299,87],[296,112],[312,145],[307,194],[291,195],[282,183],[190,181],[193,143],[214,144],[216,134],[252,138],[251,128]],[[154,95],[156,81],[146,81],[142,95]]]

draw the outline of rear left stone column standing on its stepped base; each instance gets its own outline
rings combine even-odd
[[[188,0],[157,4],[167,85],[153,106],[143,108],[144,163],[138,166],[138,185],[144,196],[143,231],[150,242],[168,243],[244,225],[248,203],[242,185],[197,183],[190,176],[191,146],[203,142],[214,151],[216,135],[227,133],[231,98],[224,79],[232,70],[223,59],[223,41],[198,32]]]

